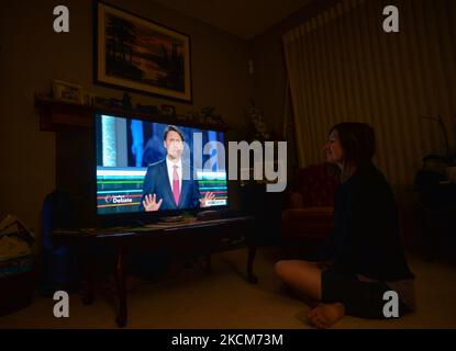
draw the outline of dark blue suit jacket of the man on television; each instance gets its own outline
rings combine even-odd
[[[182,168],[186,163],[182,162]],[[143,196],[141,197],[140,211],[144,211],[143,201],[147,194],[155,194],[156,201],[163,199],[160,210],[180,210],[180,208],[199,208],[200,206],[200,188],[198,181],[193,179],[193,170],[190,169],[190,179],[185,180],[182,176],[182,185],[180,189],[179,204],[176,205],[173,189],[169,184],[168,169],[166,160],[158,161],[147,167],[146,176],[143,183]],[[185,170],[182,169],[182,174]]]

